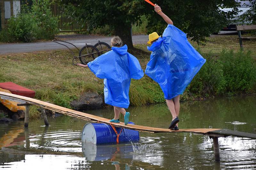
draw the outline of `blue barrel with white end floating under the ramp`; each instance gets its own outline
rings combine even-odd
[[[129,124],[134,124],[129,122]],[[122,128],[115,127],[119,134]],[[139,131],[123,129],[119,136],[121,142],[139,142]],[[86,123],[82,130],[82,142],[92,144],[115,144],[116,133],[114,129],[105,123]]]

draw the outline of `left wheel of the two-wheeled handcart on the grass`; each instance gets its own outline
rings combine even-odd
[[[86,55],[84,57],[80,57]],[[93,61],[96,57],[100,56],[99,50],[92,45],[85,45],[79,51],[79,60],[82,64],[87,64]]]

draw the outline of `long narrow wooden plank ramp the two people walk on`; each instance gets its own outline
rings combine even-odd
[[[12,100],[21,103],[21,105],[35,105],[39,107],[43,107],[48,110],[52,110],[54,112],[62,113],[64,115],[77,117],[79,119],[88,120],[92,122],[99,122],[99,123],[109,123],[109,119],[105,119],[99,116],[90,115],[87,113],[79,112],[76,110],[68,109],[65,107],[57,106],[48,102],[44,102],[41,100],[36,100],[24,96],[19,96],[12,93],[6,93],[6,92],[0,92],[1,99],[5,100]],[[27,107],[26,107],[27,108]],[[28,107],[29,108],[29,107]],[[28,114],[27,114],[28,116]],[[28,120],[28,117],[27,117]],[[25,114],[25,123],[26,123],[26,114]],[[151,132],[151,133],[160,133],[160,132],[170,132],[170,133],[177,133],[177,132],[192,132],[192,133],[199,133],[203,135],[209,135],[209,136],[218,136],[218,137],[226,137],[226,136],[237,136],[237,137],[249,137],[249,138],[255,138],[256,134],[251,133],[244,133],[244,132],[238,132],[233,130],[225,130],[225,129],[180,129],[180,130],[170,130],[170,129],[162,129],[162,128],[153,128],[153,127],[147,127],[147,126],[140,126],[140,125],[124,125],[123,122],[120,123],[113,123],[116,127],[122,127],[126,129],[133,129],[138,131],[145,131],[145,132]]]

